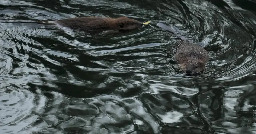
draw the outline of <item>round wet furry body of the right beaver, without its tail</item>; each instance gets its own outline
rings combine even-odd
[[[182,41],[179,43],[174,59],[187,75],[197,75],[204,71],[209,57],[203,47]]]

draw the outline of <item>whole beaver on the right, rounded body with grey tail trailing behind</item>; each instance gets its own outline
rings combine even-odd
[[[178,41],[178,47],[174,54],[174,60],[179,64],[180,69],[186,75],[199,75],[208,62],[208,52],[198,44],[194,44],[189,39],[181,35],[181,31],[174,26],[167,26],[163,23],[157,24],[164,30],[174,33],[181,41]]]

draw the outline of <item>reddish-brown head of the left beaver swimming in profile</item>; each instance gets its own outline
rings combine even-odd
[[[117,29],[120,32],[138,29],[143,25],[141,22],[127,17],[119,17],[110,21],[110,27],[112,27],[113,29]]]

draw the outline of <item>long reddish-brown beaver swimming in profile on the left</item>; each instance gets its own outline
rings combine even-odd
[[[57,20],[56,23],[86,33],[101,33],[103,31],[126,32],[140,28],[143,25],[143,23],[127,17],[80,17]]]

